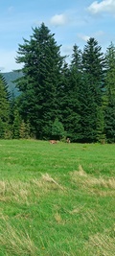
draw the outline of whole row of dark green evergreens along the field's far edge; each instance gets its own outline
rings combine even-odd
[[[115,142],[115,46],[91,37],[70,63],[44,23],[18,45],[18,97],[0,75],[0,138]]]

